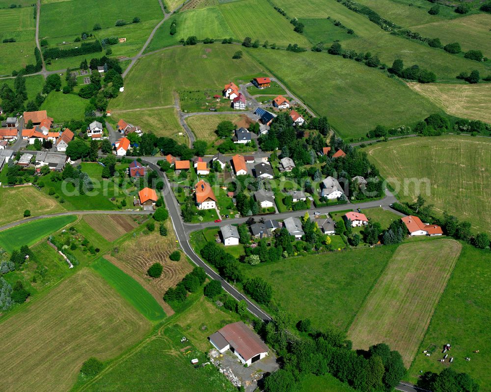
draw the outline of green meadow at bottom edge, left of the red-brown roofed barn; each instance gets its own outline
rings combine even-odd
[[[116,359],[112,366],[86,384],[83,391],[153,392],[162,388],[180,392],[237,391],[215,366],[195,369],[191,365],[192,358],[198,358],[201,363],[207,361],[199,351],[212,347],[206,337],[236,320],[235,315],[220,311],[207,299],[198,300],[183,313],[170,317],[155,335],[139,344],[130,355]],[[203,326],[204,330],[201,329]],[[182,336],[190,340],[181,343]],[[181,351],[187,346],[190,347]]]

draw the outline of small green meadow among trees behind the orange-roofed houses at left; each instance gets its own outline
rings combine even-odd
[[[46,110],[55,122],[66,122],[72,119],[83,118],[88,100],[75,94],[63,94],[61,91],[52,91],[46,97],[39,110]]]

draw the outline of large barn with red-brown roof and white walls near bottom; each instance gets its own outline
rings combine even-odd
[[[243,364],[251,365],[268,355],[268,346],[242,321],[225,325],[208,339],[220,353],[230,349]]]

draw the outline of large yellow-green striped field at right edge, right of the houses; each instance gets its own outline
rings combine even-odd
[[[366,151],[384,178],[398,181],[399,200],[414,201],[421,194],[436,212],[446,210],[469,220],[474,229],[490,232],[489,139],[421,137],[374,145]],[[415,179],[421,179],[420,189]]]

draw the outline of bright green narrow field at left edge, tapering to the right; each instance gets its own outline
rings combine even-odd
[[[3,230],[0,232],[0,246],[9,253],[22,245],[30,246],[76,219],[77,217],[74,215],[55,216]]]

